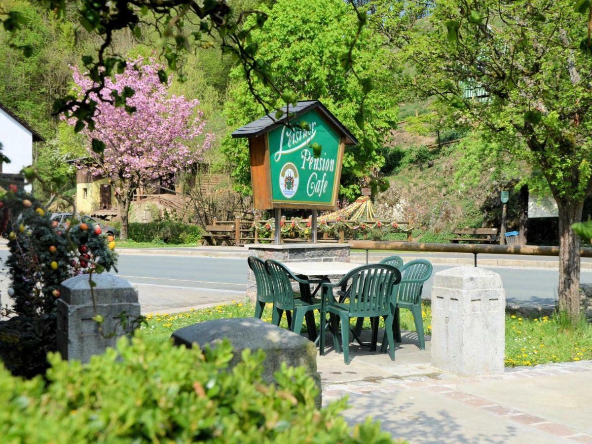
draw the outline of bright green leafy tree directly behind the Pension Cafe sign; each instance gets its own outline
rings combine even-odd
[[[397,118],[395,97],[387,83],[391,52],[370,28],[364,28],[356,40],[358,18],[341,0],[319,0],[312,4],[304,0],[279,0],[272,9],[263,7],[262,11],[268,20],[260,30],[252,32],[251,44],[258,48],[260,60],[274,73],[275,86],[285,93],[280,104],[295,102],[295,92],[302,99],[320,99],[362,140],[361,146],[346,150],[340,186],[342,197],[358,197],[361,181],[384,165],[379,150]],[[353,41],[356,43],[352,58],[362,81],[352,73],[344,73],[340,64],[342,54],[348,53]],[[235,67],[231,72],[230,100],[224,108],[229,127],[240,127],[265,114],[265,108],[252,99],[251,88],[259,91],[264,102],[274,101],[274,88],[259,79],[246,78],[243,70]],[[281,113],[276,115],[282,117]],[[249,188],[246,141],[227,137],[223,151],[232,164],[236,181]],[[380,186],[378,181],[374,183]]]

